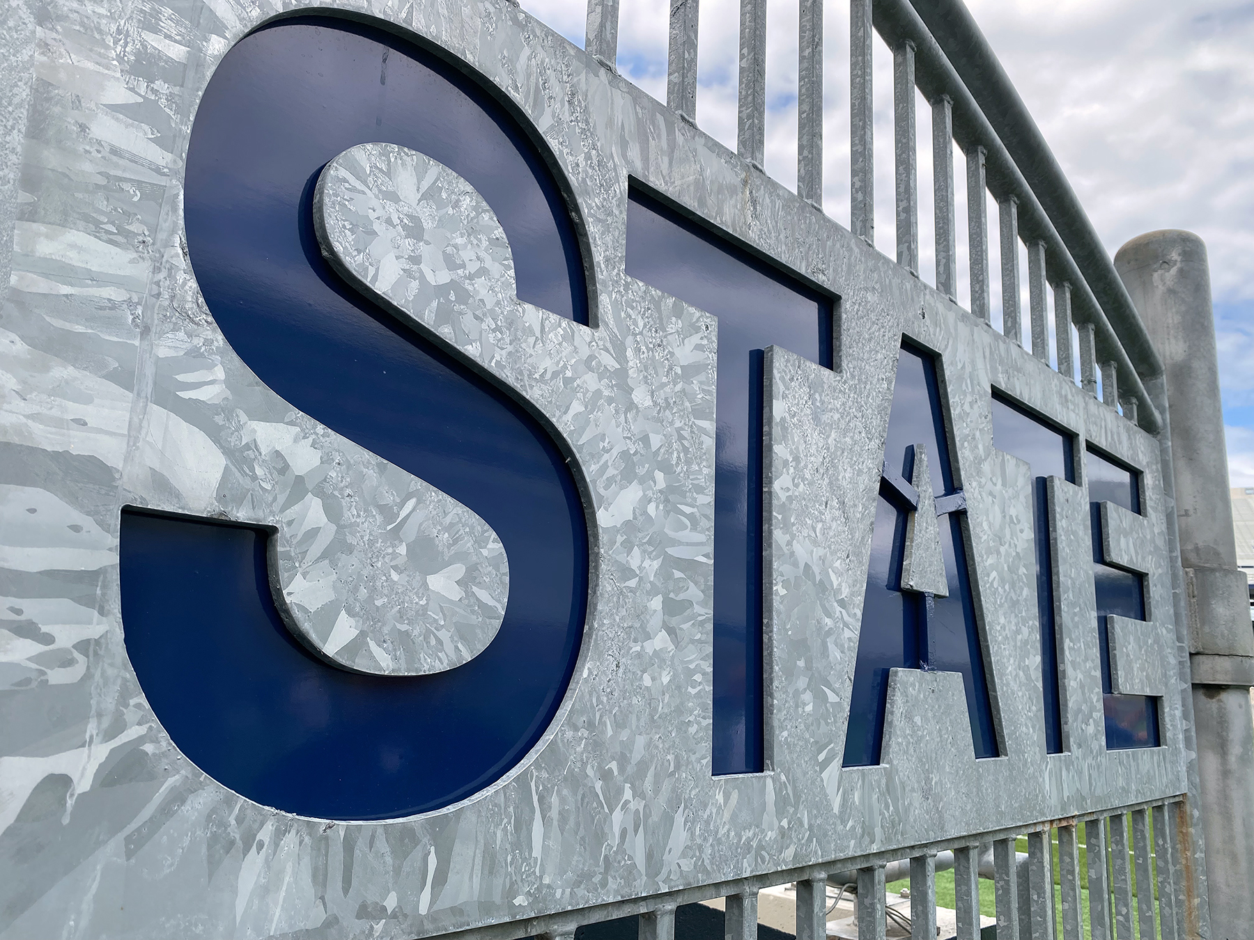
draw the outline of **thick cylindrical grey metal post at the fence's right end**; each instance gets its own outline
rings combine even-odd
[[[1236,568],[1206,246],[1190,232],[1134,238],[1115,266],[1164,362],[1205,836],[1210,936],[1254,924],[1254,630]]]

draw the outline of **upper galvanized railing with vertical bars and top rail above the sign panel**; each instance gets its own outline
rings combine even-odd
[[[761,167],[766,125],[766,0],[745,0],[740,24],[737,152]],[[924,19],[927,18],[927,19]],[[850,20],[851,231],[874,243],[873,38],[893,54],[897,262],[919,267],[915,89],[932,108],[935,288],[958,296],[953,144],[967,158],[966,227],[971,313],[991,320],[989,239],[1001,247],[1002,330],[1023,342],[1018,244],[1027,248],[1030,351],[1067,376],[1076,375],[1072,326],[1078,331],[1078,377],[1085,390],[1151,434],[1161,417],[1142,384],[1162,365],[1127,291],[1070,183],[1057,167],[1009,80],[961,3],[853,0]],[[696,123],[698,4],[671,5],[666,104]],[[933,34],[932,26],[939,26]],[[618,54],[618,1],[591,0],[586,50],[612,64]],[[800,8],[798,183],[803,201],[823,199],[823,4]],[[989,107],[991,105],[991,107]],[[989,233],[987,198],[999,231]],[[884,198],[883,196],[880,198]],[[1053,292],[1052,305],[1047,291]],[[1052,312],[1053,323],[1050,323]],[[1051,326],[1053,327],[1051,330]],[[1051,341],[1058,337],[1055,350]],[[1051,351],[1055,355],[1051,356]],[[1099,385],[1100,384],[1100,385]]]

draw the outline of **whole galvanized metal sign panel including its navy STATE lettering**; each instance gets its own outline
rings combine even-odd
[[[520,936],[1185,791],[1159,447],[1046,362],[508,3],[45,14],[0,935]]]

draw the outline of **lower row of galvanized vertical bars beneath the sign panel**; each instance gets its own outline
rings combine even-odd
[[[1180,940],[1195,935],[1186,922],[1188,875],[1180,845],[1186,817],[1183,800],[1155,801],[1081,813],[1027,830],[946,840],[904,854],[898,850],[841,860],[836,866],[849,867],[840,871],[831,866],[781,871],[524,921],[488,935],[507,936],[523,926],[542,926],[543,936],[571,937],[578,926],[635,914],[640,916],[642,939],[670,940],[678,906],[722,897],[727,940],[755,940],[759,891],[789,884],[795,887],[799,937],[828,936],[835,906],[830,885],[844,885],[855,895],[859,937],[883,940],[894,920],[898,930],[910,936],[939,936],[935,875],[952,869],[958,940],[991,935],[988,927],[981,927],[979,879],[994,885],[998,937]],[[1026,852],[1020,851],[1025,842]],[[885,884],[904,879],[909,879],[909,916],[903,921],[889,914]]]

